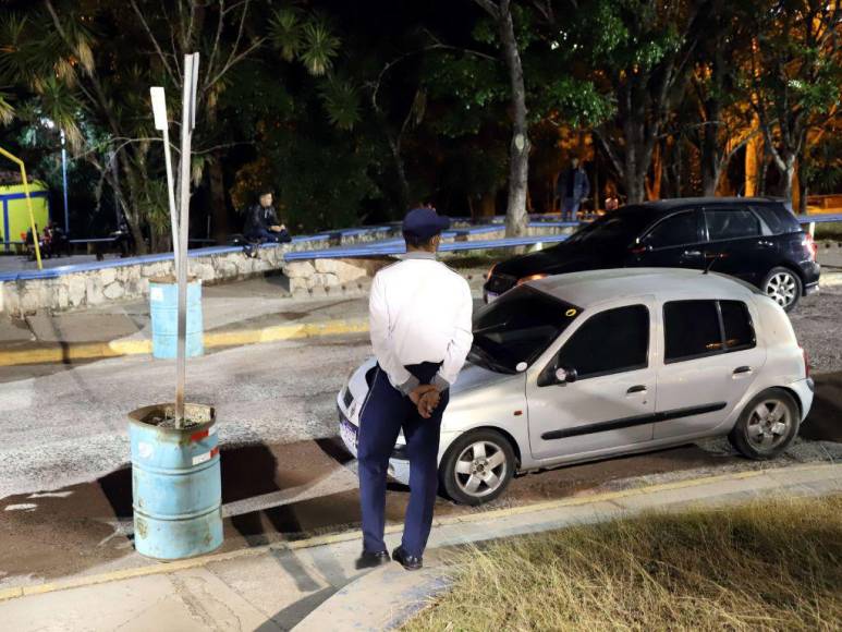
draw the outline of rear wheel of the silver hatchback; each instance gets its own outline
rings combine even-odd
[[[746,404],[728,439],[744,457],[765,461],[786,449],[800,425],[801,411],[793,397],[770,388]]]

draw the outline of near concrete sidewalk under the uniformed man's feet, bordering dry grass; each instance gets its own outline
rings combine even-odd
[[[446,585],[447,548],[611,520],[652,509],[719,506],[768,495],[842,493],[842,465],[697,478],[436,522],[426,571],[354,569],[361,535],[284,543],[0,592],[0,621],[35,630],[382,630]],[[400,526],[388,528],[398,544]]]

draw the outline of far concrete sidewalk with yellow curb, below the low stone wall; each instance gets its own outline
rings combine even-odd
[[[205,348],[368,331],[368,297],[292,299],[286,279],[265,277],[203,289]],[[475,295],[483,276],[471,271]],[[151,353],[147,301],[24,320],[0,318],[0,366],[143,355]]]

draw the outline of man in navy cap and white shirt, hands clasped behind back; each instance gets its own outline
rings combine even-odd
[[[371,285],[377,369],[359,414],[363,555],[357,568],[389,561],[383,542],[386,473],[401,428],[410,458],[410,505],[403,539],[392,558],[407,570],[422,568],[438,489],[441,416],[473,341],[467,281],[436,260],[441,231],[449,227],[432,208],[407,212],[406,254],[380,270]]]

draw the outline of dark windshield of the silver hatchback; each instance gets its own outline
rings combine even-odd
[[[528,285],[515,288],[474,317],[468,360],[498,373],[530,365],[564,331],[581,309]]]

